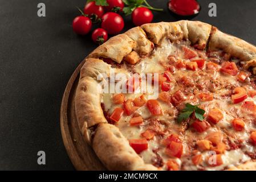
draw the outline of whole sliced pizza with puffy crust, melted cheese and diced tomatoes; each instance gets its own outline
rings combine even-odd
[[[256,48],[210,24],[144,24],[86,57],[76,117],[109,170],[255,170],[255,75]]]

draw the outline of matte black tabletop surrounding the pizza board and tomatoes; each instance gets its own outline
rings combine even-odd
[[[46,4],[46,17],[37,5]],[[72,32],[76,6],[83,0],[0,0],[0,170],[73,170],[59,127],[62,94],[68,79],[96,45],[90,35]],[[164,8],[154,22],[174,21],[167,0],[148,1]],[[201,0],[194,20],[256,44],[256,1]],[[208,16],[210,2],[217,17]],[[125,18],[125,30],[132,27]],[[46,152],[46,165],[37,152]]]

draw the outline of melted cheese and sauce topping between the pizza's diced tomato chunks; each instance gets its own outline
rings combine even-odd
[[[139,63],[134,65],[133,67],[125,66],[125,69],[128,69],[131,72],[135,73],[163,73],[165,71],[165,64],[169,64],[168,56],[173,55],[177,59],[183,60],[185,63],[189,60],[184,59],[184,53],[181,51],[181,46],[189,47],[190,42],[181,42],[180,44],[170,43],[168,39],[164,39],[161,43],[160,47],[157,47],[153,52],[152,56],[145,57]],[[190,47],[190,49],[193,49]],[[201,52],[201,55],[205,56],[205,52]],[[199,56],[195,57],[200,58]],[[206,57],[206,62],[208,63],[209,60]],[[187,95],[193,95],[196,98],[195,92],[200,91],[199,88],[202,86],[201,92],[212,92],[214,96],[214,100],[202,102],[198,99],[193,100],[186,100],[184,103],[193,103],[200,104],[204,107],[206,113],[209,113],[210,109],[218,108],[222,111],[224,118],[221,119],[216,125],[211,124],[211,127],[204,131],[203,133],[197,133],[193,129],[186,128],[182,129],[180,124],[177,124],[175,119],[177,118],[177,110],[179,110],[178,106],[174,107],[172,104],[168,104],[164,101],[158,99],[162,110],[164,111],[164,115],[161,116],[154,116],[149,111],[146,105],[139,107],[136,110],[136,114],[141,115],[144,119],[144,123],[141,126],[130,126],[129,121],[133,117],[133,115],[126,115],[124,114],[123,117],[120,119],[119,122],[115,123],[117,127],[119,127],[121,133],[127,139],[141,139],[141,133],[148,129],[148,126],[151,123],[151,119],[158,119],[160,125],[165,128],[164,135],[156,135],[152,140],[148,141],[149,147],[148,150],[145,150],[140,153],[141,158],[144,159],[145,163],[148,164],[155,164],[157,159],[157,155],[161,158],[162,165],[160,166],[162,169],[167,169],[166,162],[169,159],[173,159],[177,162],[181,169],[185,170],[197,170],[197,169],[204,169],[204,170],[221,170],[226,169],[231,166],[237,166],[241,163],[250,160],[251,158],[246,155],[246,152],[256,152],[256,147],[251,145],[249,142],[250,132],[255,130],[255,115],[251,115],[250,112],[241,109],[241,105],[243,102],[239,104],[233,104],[231,101],[231,91],[237,86],[243,86],[247,90],[253,90],[253,87],[249,85],[249,81],[246,82],[238,82],[235,76],[225,75],[220,72],[208,72],[206,68],[202,71],[197,69],[197,71],[189,71],[184,69],[177,69],[176,72],[173,73],[174,82],[171,82],[173,85],[172,89],[170,90],[170,94],[173,94],[177,90],[184,89],[184,86],[180,82],[180,78],[185,76],[191,78],[193,82],[196,84],[193,88],[185,88],[184,92]],[[123,107],[123,104],[117,105],[113,104],[113,97],[114,94],[104,93],[102,95],[102,103],[104,104],[104,110],[107,111],[109,115],[113,113],[116,107]],[[133,93],[133,94],[124,94],[125,100],[131,98],[134,100],[137,97],[141,96],[141,93]],[[148,100],[150,94],[146,93],[145,98]],[[152,98],[151,98],[152,99]],[[157,99],[157,98],[155,98]],[[256,99],[248,97],[246,100],[254,101],[256,104]],[[241,132],[235,131],[232,127],[231,121],[234,118],[242,118],[246,125],[245,129]],[[225,139],[233,139],[235,141],[240,142],[242,147],[232,148],[230,147],[227,149],[224,154],[222,154],[222,161],[223,164],[216,167],[210,167],[206,164],[205,160],[208,157],[207,151],[200,151],[197,149],[196,142],[197,140],[205,139],[210,133],[215,131],[221,131],[222,135],[224,135]],[[183,144],[183,153],[182,157],[175,158],[170,157],[165,154],[165,148],[161,141],[168,137],[170,134],[178,134],[180,135],[180,139],[182,140]],[[229,145],[228,142],[226,142]],[[197,154],[202,155],[202,159],[204,162],[195,166],[192,163],[192,153],[197,151]],[[158,161],[159,162],[159,161]]]

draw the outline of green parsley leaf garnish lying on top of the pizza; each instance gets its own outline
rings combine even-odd
[[[198,105],[191,105],[189,103],[186,104],[185,108],[181,111],[181,113],[178,115],[178,123],[184,121],[185,119],[188,119],[190,115],[194,113],[196,118],[200,121],[204,120],[204,114],[205,110],[200,109]]]

